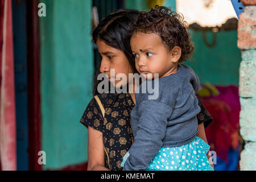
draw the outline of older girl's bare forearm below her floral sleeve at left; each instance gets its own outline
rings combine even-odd
[[[88,171],[109,171],[105,167],[102,133],[88,126]]]

